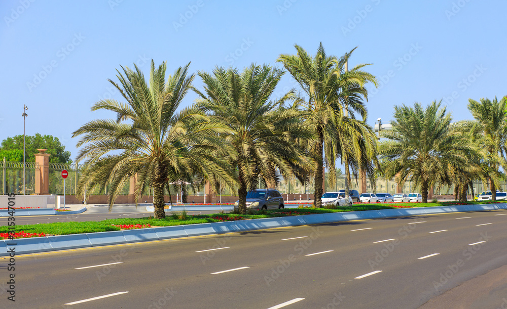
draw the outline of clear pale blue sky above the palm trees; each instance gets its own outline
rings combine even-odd
[[[120,65],[280,66],[295,43],[315,54],[320,41],[338,57],[357,47],[349,67],[372,64],[370,125],[388,122],[394,105],[442,99],[454,120],[470,119],[469,98],[507,95],[506,9],[505,0],[2,0],[0,141],[23,134],[26,105],[26,134],[57,137],[74,160],[72,132],[114,118],[90,107],[121,99],[107,81]],[[287,73],[277,92],[294,86]]]

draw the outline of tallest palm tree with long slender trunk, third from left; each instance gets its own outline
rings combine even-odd
[[[325,54],[322,43],[313,57],[300,46],[295,47],[297,55],[280,55],[277,61],[283,63],[304,93],[299,101],[305,111],[303,121],[316,136],[316,141],[309,141],[307,145],[317,161],[314,205],[321,207],[324,164],[331,171],[332,186],[336,180],[334,170],[338,157],[345,163],[348,181],[350,164],[359,169],[366,167],[367,174],[374,179],[372,161],[375,160],[376,140],[364,136],[367,131],[372,131],[365,122],[364,100],[368,97],[365,84],[377,83],[375,76],[362,70],[368,64],[346,70],[354,50],[337,59]],[[356,120],[353,112],[359,113],[363,120]]]

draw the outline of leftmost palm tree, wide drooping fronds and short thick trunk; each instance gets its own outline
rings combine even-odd
[[[109,79],[125,102],[97,102],[92,110],[116,112],[116,119],[93,120],[74,132],[73,137],[82,136],[77,146],[84,146],[77,160],[86,160],[78,194],[107,187],[111,211],[121,189],[137,173],[136,203],[152,187],[155,217],[163,218],[164,186],[169,188],[170,182],[212,174],[233,184],[220,160],[227,149],[218,137],[229,130],[195,106],[177,112],[194,78],[187,76],[189,65],[179,67],[167,81],[166,63],[156,69],[153,60],[149,84],[135,65],[135,70],[117,71],[120,84]]]

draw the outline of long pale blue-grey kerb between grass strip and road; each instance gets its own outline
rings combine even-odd
[[[465,206],[465,207],[463,207]],[[53,250],[72,249],[78,247],[102,246],[122,243],[132,243],[157,239],[180,238],[186,236],[221,234],[262,230],[276,227],[300,226],[341,222],[360,219],[375,219],[383,217],[403,217],[433,213],[449,213],[463,211],[484,211],[507,209],[507,204],[482,204],[459,206],[435,206],[420,208],[401,208],[384,210],[352,211],[342,213],[309,214],[277,218],[261,218],[238,220],[233,222],[205,223],[199,225],[152,227],[148,229],[86,233],[62,236],[47,236],[22,238],[15,240],[0,240],[0,256],[7,256],[7,243],[16,243],[16,254],[44,252]],[[89,241],[89,245],[83,235]]]

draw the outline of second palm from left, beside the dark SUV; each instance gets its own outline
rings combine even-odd
[[[297,109],[283,105],[292,92],[270,101],[283,72],[252,64],[241,74],[235,68],[198,74],[204,91],[195,90],[201,97],[196,103],[231,130],[223,137],[234,150],[229,163],[238,173],[239,212],[246,213],[247,192],[258,188],[259,181],[266,188],[275,186],[278,172],[305,183],[314,162],[294,141],[311,139],[311,132],[302,127]]]

